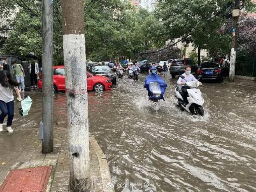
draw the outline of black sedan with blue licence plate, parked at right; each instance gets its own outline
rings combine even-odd
[[[223,81],[224,73],[220,64],[214,61],[202,62],[197,71],[198,80]]]

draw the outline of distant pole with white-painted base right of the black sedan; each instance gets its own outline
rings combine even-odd
[[[230,53],[230,70],[229,81],[234,81],[236,68],[236,48],[238,36],[238,19],[240,15],[240,0],[235,0],[235,8],[233,10],[233,28],[232,28],[232,48]]]

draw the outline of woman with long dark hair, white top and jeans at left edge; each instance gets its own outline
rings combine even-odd
[[[14,96],[12,91],[15,90],[18,100],[22,101],[18,89],[18,83],[12,78],[12,74],[7,70],[0,71],[0,132],[3,131],[4,118],[8,115],[6,129],[8,132],[13,132],[12,120],[14,117]]]

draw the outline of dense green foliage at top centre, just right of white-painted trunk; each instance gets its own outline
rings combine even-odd
[[[133,58],[142,50],[161,46],[157,38],[159,22],[152,14],[136,11],[130,3],[122,4],[120,0],[112,0],[111,9],[104,9],[109,3],[95,2],[86,11],[88,59]]]

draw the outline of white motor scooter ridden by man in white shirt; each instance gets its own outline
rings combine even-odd
[[[181,77],[182,79],[184,79],[185,77],[180,75],[179,77]],[[182,90],[180,89],[180,87],[178,85],[176,85],[175,88],[175,92],[176,92],[176,102],[179,106],[181,106],[182,108],[184,108],[187,112],[190,112],[192,114],[195,115],[200,115],[200,116],[204,116],[204,108],[203,108],[203,104],[204,104],[204,98],[202,96],[202,93],[200,91],[200,89],[197,89],[197,87],[200,86],[200,82],[185,82],[184,86],[187,86],[188,89],[188,104],[186,104],[184,102],[184,98]]]

